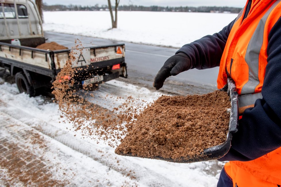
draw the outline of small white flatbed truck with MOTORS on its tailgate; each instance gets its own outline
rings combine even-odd
[[[15,75],[20,92],[35,96],[42,87],[51,87],[74,53],[72,67],[79,67],[79,76],[74,78],[75,89],[127,78],[124,44],[54,51],[37,49],[45,38],[36,5],[30,0],[2,0],[0,5],[0,67]]]

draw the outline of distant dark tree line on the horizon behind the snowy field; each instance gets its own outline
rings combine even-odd
[[[112,6],[115,9],[115,6]],[[236,7],[216,7],[216,6],[201,6],[201,7],[161,7],[161,6],[138,6],[138,5],[119,5],[119,11],[168,11],[168,12],[230,12],[239,13],[242,8]],[[93,6],[81,6],[81,5],[47,5],[43,4],[43,10],[45,11],[103,11],[109,10],[108,5],[95,4]]]

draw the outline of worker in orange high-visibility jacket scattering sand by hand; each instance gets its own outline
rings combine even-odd
[[[166,78],[189,69],[220,66],[218,89],[231,77],[244,111],[218,187],[281,185],[281,0],[248,0],[228,26],[180,48],[155,76]],[[218,20],[219,21],[219,20]]]

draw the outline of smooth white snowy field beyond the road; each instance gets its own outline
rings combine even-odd
[[[113,30],[109,11],[45,11],[43,16],[45,31],[179,48],[219,32],[237,14],[119,11]]]

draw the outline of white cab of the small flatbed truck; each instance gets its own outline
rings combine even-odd
[[[42,20],[30,0],[2,0],[0,3],[0,42],[19,40],[23,46],[45,43]]]

